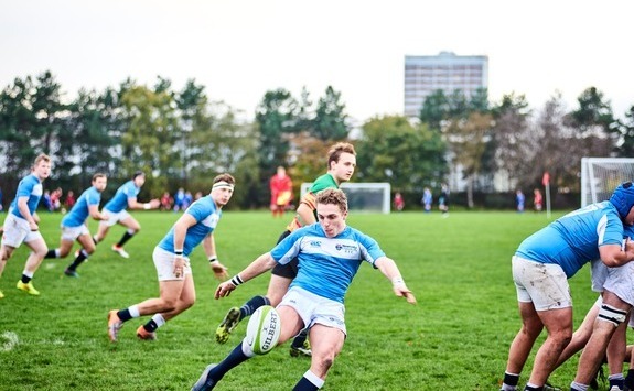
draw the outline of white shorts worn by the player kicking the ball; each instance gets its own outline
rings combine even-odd
[[[283,296],[278,307],[282,305],[292,307],[299,314],[304,323],[304,328],[319,323],[339,328],[344,335],[347,335],[344,317],[345,307],[334,300],[318,296],[301,287],[293,286]]]

